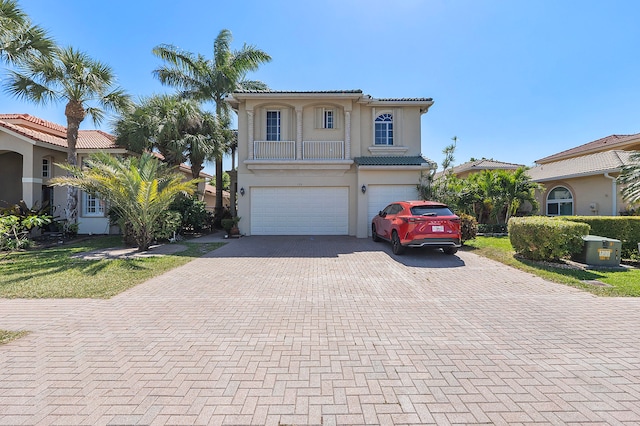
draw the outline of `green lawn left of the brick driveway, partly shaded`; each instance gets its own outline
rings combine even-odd
[[[149,278],[215,250],[224,243],[189,243],[173,255],[83,260],[72,255],[121,246],[121,238],[95,237],[48,249],[0,253],[0,298],[107,299]]]

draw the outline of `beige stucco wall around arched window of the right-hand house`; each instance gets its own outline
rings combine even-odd
[[[615,177],[617,174],[611,174]],[[578,216],[617,216],[620,211],[627,208],[627,203],[622,199],[620,186],[616,185],[616,194],[613,194],[612,180],[604,174],[585,176],[573,179],[542,182],[545,190],[537,193],[540,203],[540,213],[546,214],[546,200],[550,191],[558,186],[568,188],[573,195],[573,213]],[[615,200],[615,201],[614,201]],[[613,208],[615,202],[615,209]],[[591,205],[596,204],[597,209],[592,210]]]

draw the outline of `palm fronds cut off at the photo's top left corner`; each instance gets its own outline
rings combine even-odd
[[[15,0],[0,0],[0,62],[16,64],[34,56],[49,55],[53,40],[33,25]]]

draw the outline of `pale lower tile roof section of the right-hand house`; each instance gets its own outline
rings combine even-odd
[[[531,180],[544,182],[572,177],[617,172],[630,160],[634,151],[611,150],[545,163],[527,170]]]

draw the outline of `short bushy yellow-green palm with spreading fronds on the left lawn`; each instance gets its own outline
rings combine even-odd
[[[138,249],[148,250],[159,229],[159,219],[178,194],[193,195],[198,180],[185,181],[183,175],[162,164],[152,154],[120,159],[100,152],[86,162],[86,168],[60,165],[69,176],[51,180],[52,185],[72,186],[105,199],[120,219],[125,232],[130,229]]]

